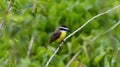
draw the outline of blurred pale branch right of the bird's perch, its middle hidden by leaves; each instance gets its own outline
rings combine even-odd
[[[94,42],[98,37],[112,31],[113,29],[115,29],[118,25],[120,24],[120,21],[118,21],[116,24],[114,24],[111,28],[109,28],[108,30],[106,30],[105,32],[101,33],[101,34],[98,34],[97,36],[95,36],[91,42]],[[81,48],[73,57],[72,59],[67,63],[66,67],[69,67],[70,64],[78,57],[78,55],[80,55],[83,51],[83,48]]]

